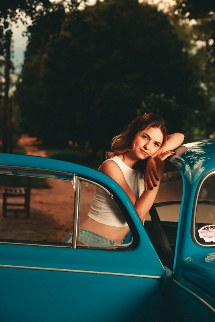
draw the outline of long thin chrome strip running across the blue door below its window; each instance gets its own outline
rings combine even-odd
[[[62,268],[16,266],[16,265],[4,265],[4,264],[0,264],[0,267],[2,267],[2,268],[25,269],[25,270],[51,270],[51,271],[59,271],[59,272],[71,272],[71,273],[87,273],[87,274],[98,274],[98,275],[117,275],[117,276],[128,276],[128,277],[143,277],[143,278],[149,278],[149,279],[160,279],[161,278],[161,276],[156,276],[156,275],[127,274],[127,273],[103,272],[103,271],[93,271],[93,270],[69,270],[69,269],[62,269]]]

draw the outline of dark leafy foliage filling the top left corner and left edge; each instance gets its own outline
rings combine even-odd
[[[81,0],[84,2],[85,0]],[[80,4],[79,0],[7,0],[0,4],[0,137],[2,138],[2,152],[12,152],[15,136],[18,132],[15,115],[13,115],[13,99],[10,93],[12,87],[11,41],[12,24],[21,21],[32,26],[51,12],[58,16],[65,11],[75,13]],[[3,59],[2,59],[3,58]],[[15,135],[14,135],[15,134]]]

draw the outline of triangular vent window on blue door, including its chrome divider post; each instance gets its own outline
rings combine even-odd
[[[125,216],[106,188],[90,180],[78,178],[75,190],[74,228],[65,241],[71,242],[73,247],[93,249],[125,248],[131,244],[132,234]],[[93,223],[92,229],[86,226],[86,221],[89,220]],[[126,227],[128,232],[122,240],[115,241],[100,231],[100,224],[106,225],[110,235],[114,235],[115,229],[121,226]]]

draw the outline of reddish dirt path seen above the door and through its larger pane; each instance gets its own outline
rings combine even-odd
[[[27,155],[46,157],[39,150],[37,138],[26,135],[19,139]],[[7,212],[2,216],[0,194],[0,231],[3,239],[63,241],[72,230],[74,191],[72,183],[65,180],[47,179],[49,188],[31,188],[30,216],[24,212]],[[3,190],[3,186],[0,186]],[[13,201],[13,200],[12,200]],[[15,202],[22,202],[16,198]]]

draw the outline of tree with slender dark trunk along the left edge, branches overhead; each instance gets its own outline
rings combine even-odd
[[[10,129],[9,129],[9,83],[10,83],[10,45],[12,23],[21,20],[27,24],[30,18],[32,25],[37,23],[41,16],[46,16],[49,12],[76,11],[80,2],[77,0],[49,1],[49,0],[7,0],[0,6],[0,55],[5,56],[5,84],[3,103],[3,152],[9,152]]]

